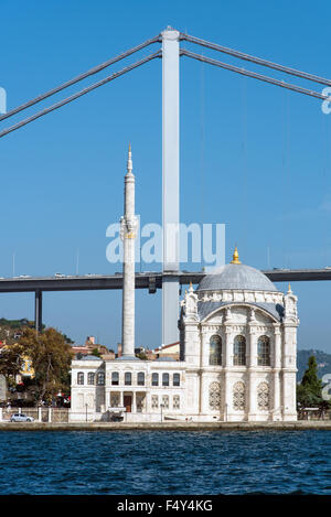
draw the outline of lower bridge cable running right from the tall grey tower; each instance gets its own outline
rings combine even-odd
[[[274,79],[273,77],[268,77],[267,75],[257,74],[255,72],[246,71],[245,68],[238,68],[237,66],[228,65],[227,63],[223,63],[217,60],[212,60],[211,57],[206,57],[201,54],[195,54],[194,52],[188,51],[185,49],[181,50],[181,55],[185,55],[188,57],[192,57],[193,60],[203,61],[204,63],[209,63],[210,65],[218,66],[221,68],[225,68],[231,72],[235,72],[237,74],[246,75],[248,77],[253,77],[255,79],[264,80],[265,83],[270,83],[276,86],[281,86],[282,88],[291,89],[292,91],[297,91],[299,94],[309,95],[310,97],[316,97],[318,99],[328,99],[327,95],[320,94],[318,91],[313,91],[311,89],[302,88],[301,86],[292,85],[290,83],[285,83],[284,80]],[[331,83],[330,83],[331,84]]]

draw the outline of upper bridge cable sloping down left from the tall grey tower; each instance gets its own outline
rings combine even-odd
[[[97,65],[97,66],[90,68],[89,71],[85,72],[84,74],[81,74],[81,75],[78,75],[77,77],[74,77],[71,80],[67,80],[66,83],[63,83],[60,86],[56,86],[55,88],[51,89],[50,91],[46,91],[45,94],[39,95],[34,99],[29,100],[28,103],[24,103],[21,106],[18,106],[17,108],[11,109],[10,111],[8,111],[4,115],[1,115],[0,116],[0,121],[7,119],[9,117],[12,117],[13,115],[19,114],[20,111],[23,111],[23,109],[26,109],[26,108],[30,108],[31,106],[34,106],[35,104],[40,103],[41,100],[44,100],[47,97],[51,97],[52,95],[57,94],[58,91],[67,88],[68,86],[72,86],[72,85],[78,83],[79,80],[85,79],[86,77],[89,77],[90,75],[97,74],[98,72],[107,68],[108,66],[114,65],[114,63],[117,63],[117,62],[124,60],[125,57],[128,57],[131,54],[135,54],[136,52],[141,51],[146,46],[151,45],[152,43],[157,43],[158,41],[160,41],[159,35],[154,36],[154,37],[151,37],[150,40],[147,40],[143,43],[141,43],[140,45],[134,46],[132,49],[129,49],[126,52],[122,52],[118,56],[113,57],[111,60],[108,60],[105,63],[102,63],[100,65]]]

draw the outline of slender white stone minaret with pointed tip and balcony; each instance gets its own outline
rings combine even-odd
[[[122,265],[122,327],[121,359],[135,356],[135,239],[137,218],[135,216],[135,176],[132,174],[131,146],[129,146],[127,174],[125,176],[125,213],[120,219],[120,236],[124,244]]]

